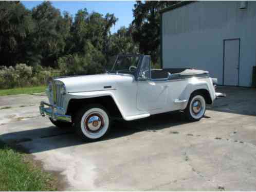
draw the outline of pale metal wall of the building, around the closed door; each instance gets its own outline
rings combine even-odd
[[[239,86],[250,87],[256,60],[256,2],[194,2],[162,13],[163,68],[207,70],[223,84],[224,39],[240,38]]]

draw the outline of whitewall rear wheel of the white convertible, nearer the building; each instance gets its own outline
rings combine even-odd
[[[185,109],[186,117],[192,121],[200,120],[206,111],[206,102],[203,95],[199,93],[192,94],[187,108]]]

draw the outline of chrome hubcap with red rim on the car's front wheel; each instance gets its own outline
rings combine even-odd
[[[103,118],[99,114],[91,114],[85,119],[85,128],[90,132],[97,132],[103,126]]]

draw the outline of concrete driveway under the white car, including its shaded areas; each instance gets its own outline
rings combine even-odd
[[[93,143],[40,117],[44,96],[0,97],[0,109],[12,107],[0,110],[0,139],[59,172],[67,190],[256,190],[256,90],[218,91],[228,97],[199,122],[181,113],[116,122]]]

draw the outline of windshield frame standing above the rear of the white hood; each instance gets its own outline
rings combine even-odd
[[[115,67],[117,65],[117,60],[118,60],[119,57],[138,57],[139,60],[138,60],[138,64],[137,64],[137,70],[135,72],[113,70],[113,69],[115,69]],[[138,75],[139,75],[139,72],[140,72],[142,60],[143,60],[143,55],[141,55],[141,54],[119,54],[116,57],[116,60],[115,60],[115,63],[113,65],[112,69],[110,71],[107,71],[107,73],[124,73],[124,74],[126,73],[126,74],[132,74],[137,79]]]

